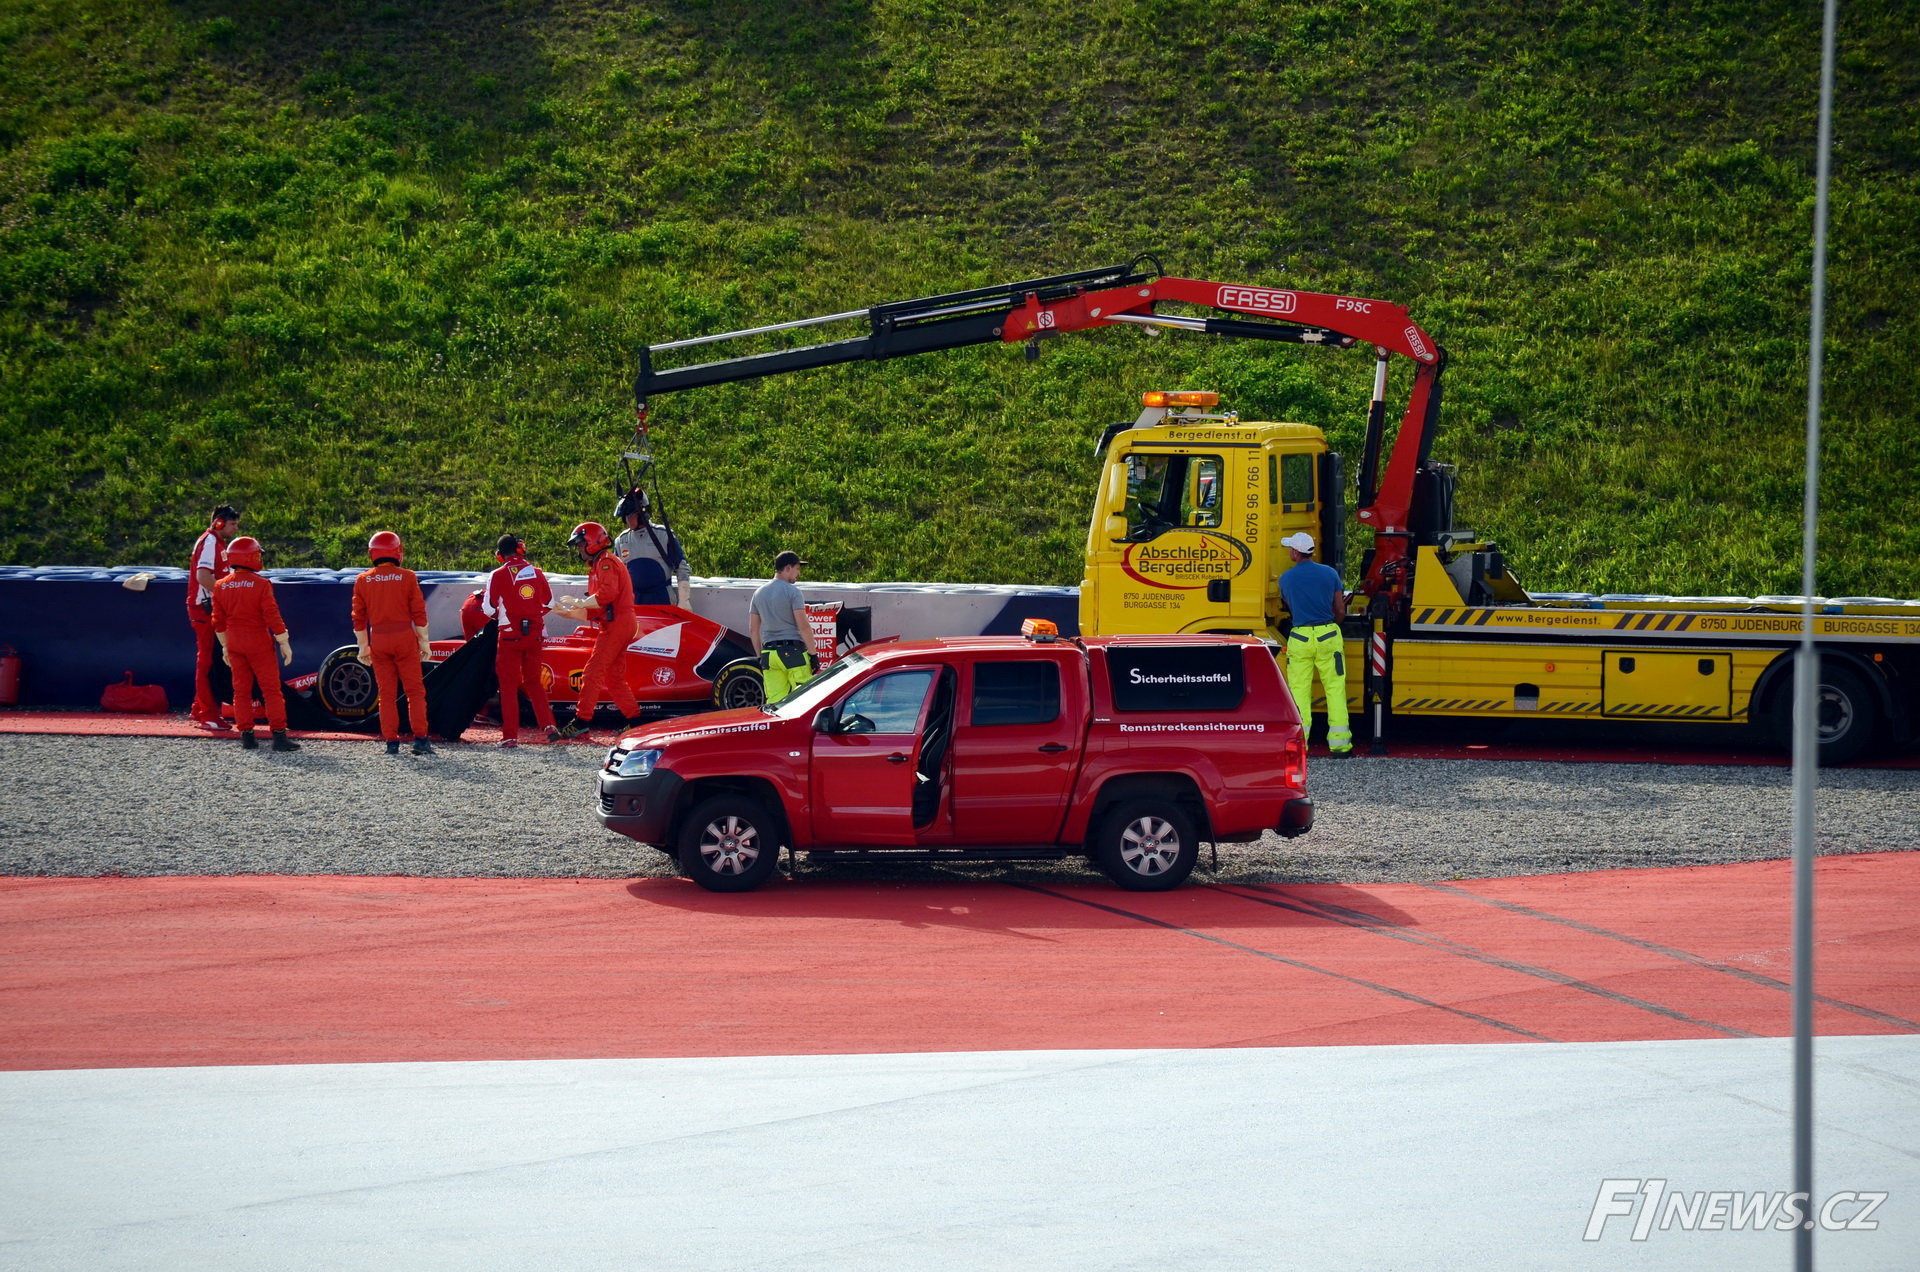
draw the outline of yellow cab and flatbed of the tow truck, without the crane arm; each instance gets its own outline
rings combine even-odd
[[[1087,534],[1081,630],[1263,632],[1294,530],[1344,565],[1340,455],[1308,425],[1242,423],[1210,392],[1154,392],[1108,459]],[[1438,465],[1432,465],[1438,469]],[[1430,471],[1432,471],[1430,469]],[[1452,496],[1452,475],[1427,488]],[[1415,503],[1419,507],[1419,503]],[[1346,621],[1348,703],[1398,717],[1757,722],[1784,740],[1799,598],[1528,594],[1498,546],[1415,517],[1411,553]],[[1377,561],[1375,553],[1375,561]],[[1371,567],[1373,563],[1369,563]],[[1363,569],[1373,580],[1377,571]],[[1820,599],[1820,755],[1912,738],[1920,601]],[[1283,653],[1284,657],[1284,653]]]

